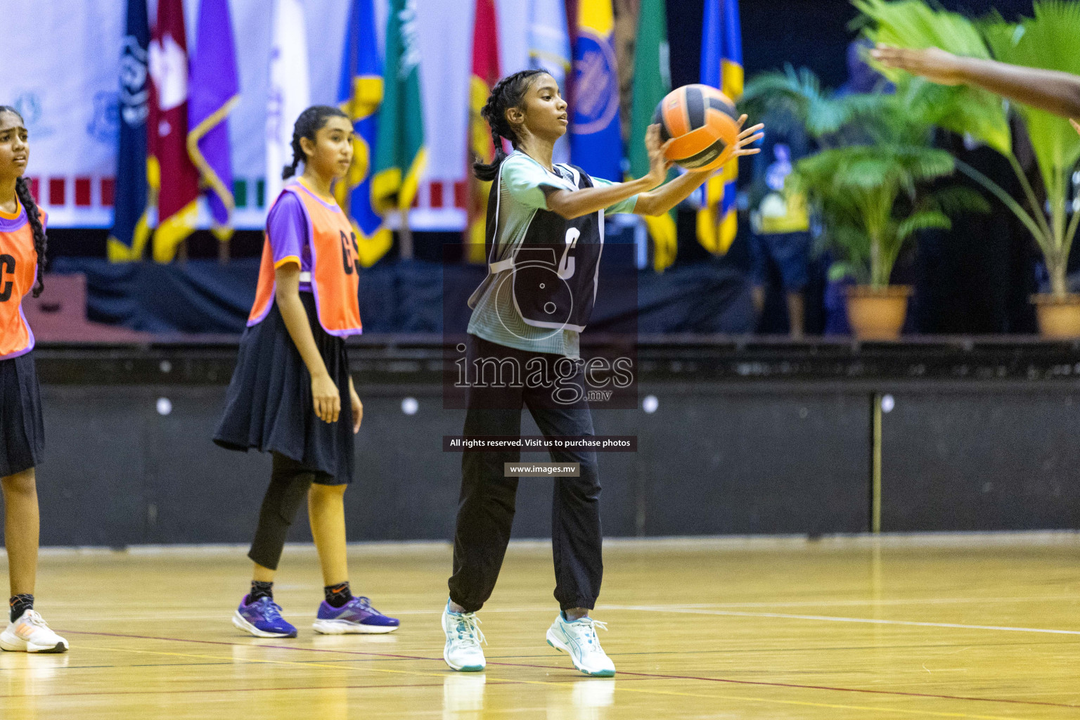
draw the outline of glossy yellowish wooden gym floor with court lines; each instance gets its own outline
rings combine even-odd
[[[1080,718],[1070,533],[611,542],[594,614],[612,680],[544,643],[545,544],[511,548],[473,675],[442,660],[447,546],[352,549],[354,587],[402,619],[372,637],[311,631],[318,563],[287,548],[295,640],[230,624],[243,554],[45,553],[39,609],[72,648],[0,653],[0,718]]]

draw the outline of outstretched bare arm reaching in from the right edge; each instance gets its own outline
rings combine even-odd
[[[1080,76],[1069,72],[961,57],[939,47],[878,45],[870,56],[887,68],[906,70],[943,85],[977,85],[1055,116],[1080,118]]]

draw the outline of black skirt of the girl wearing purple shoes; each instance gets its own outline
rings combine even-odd
[[[240,340],[237,369],[214,441],[230,450],[280,452],[307,470],[333,476],[321,484],[343,485],[352,481],[354,452],[345,340],[319,324],[310,293],[300,293],[300,301],[326,371],[341,396],[338,421],[327,423],[315,416],[311,373],[273,303],[266,318],[244,330]]]

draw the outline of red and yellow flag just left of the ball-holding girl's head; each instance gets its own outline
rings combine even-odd
[[[487,96],[501,74],[495,0],[476,0],[476,13],[473,16],[472,77],[469,80],[469,155],[484,163],[489,163],[495,158],[495,144],[491,141],[491,128],[481,117],[480,111],[487,103]],[[469,162],[467,172],[470,198],[465,259],[482,263],[486,260],[484,229],[487,219],[487,195],[491,184],[478,180],[472,174],[472,162]]]

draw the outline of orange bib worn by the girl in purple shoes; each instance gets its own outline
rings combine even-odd
[[[329,335],[345,338],[360,335],[360,260],[356,233],[337,203],[324,201],[300,182],[286,186],[282,193],[296,195],[308,221],[311,250],[311,291],[315,296],[319,324]],[[281,198],[281,195],[279,195]],[[274,201],[276,202],[276,200]],[[301,275],[301,281],[307,282]],[[247,326],[257,325],[270,312],[274,299],[273,250],[265,233],[259,283]]]

